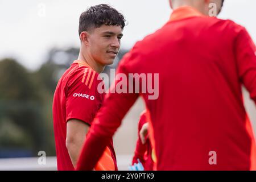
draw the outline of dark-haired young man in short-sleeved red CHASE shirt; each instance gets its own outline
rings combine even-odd
[[[104,99],[97,91],[98,73],[117,56],[124,26],[123,15],[108,5],[92,6],[80,16],[79,57],[60,78],[53,98],[58,170],[76,166],[85,135]],[[94,169],[117,170],[112,140]]]

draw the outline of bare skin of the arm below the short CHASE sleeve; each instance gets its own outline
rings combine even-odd
[[[67,122],[66,147],[74,168],[76,167],[82,144],[84,143],[88,130],[89,125],[83,121],[70,119]]]

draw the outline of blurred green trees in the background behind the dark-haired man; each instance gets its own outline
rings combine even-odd
[[[115,64],[127,52],[121,49]],[[76,60],[79,48],[52,48],[47,60],[30,71],[18,60],[0,60],[0,158],[55,156],[52,99],[57,81]]]

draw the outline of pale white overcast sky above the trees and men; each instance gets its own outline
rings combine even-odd
[[[34,70],[52,47],[79,47],[79,16],[88,6],[100,3],[125,15],[129,24],[123,31],[123,48],[162,27],[171,14],[168,0],[0,0],[0,59],[14,57]],[[255,0],[225,0],[220,14],[245,26],[254,42],[255,17]]]

